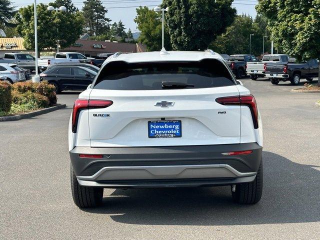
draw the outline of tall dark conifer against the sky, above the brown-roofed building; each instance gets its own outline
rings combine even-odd
[[[110,30],[111,21],[105,16],[108,12],[101,0],[84,0],[82,7],[85,29],[89,35],[100,35]]]

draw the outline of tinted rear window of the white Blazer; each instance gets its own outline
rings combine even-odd
[[[111,61],[95,80],[93,88],[110,90],[159,90],[162,82],[187,84],[181,88],[235,85],[227,67],[217,59],[199,62],[126,63]]]

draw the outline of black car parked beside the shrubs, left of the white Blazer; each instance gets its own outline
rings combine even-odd
[[[96,75],[83,66],[56,65],[40,73],[40,81],[48,81],[55,86],[55,92],[62,90],[84,90]]]

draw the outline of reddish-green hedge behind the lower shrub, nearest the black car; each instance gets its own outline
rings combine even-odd
[[[49,102],[49,105],[56,103],[56,94],[54,92],[54,86],[47,81],[41,82],[17,82],[13,85],[13,90],[19,93],[34,92],[45,96]]]

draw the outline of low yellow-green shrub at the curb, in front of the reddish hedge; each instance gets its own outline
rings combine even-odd
[[[49,100],[46,96],[38,92],[26,91],[21,93],[17,90],[12,91],[12,104],[28,105],[29,109],[37,109],[49,106]]]

